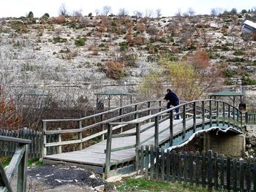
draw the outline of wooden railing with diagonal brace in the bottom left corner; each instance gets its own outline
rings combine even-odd
[[[28,147],[31,140],[0,136],[0,141],[14,142],[18,146],[7,169],[0,161],[0,191],[12,191],[12,177],[18,169],[17,191],[26,192]]]

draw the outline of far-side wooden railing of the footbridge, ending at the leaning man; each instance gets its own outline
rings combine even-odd
[[[132,107],[132,108],[131,108]],[[79,149],[82,149],[83,142],[86,142],[89,139],[94,139],[95,137],[102,137],[102,140],[105,139],[105,134],[107,131],[105,130],[105,126],[110,122],[114,122],[116,120],[123,121],[124,118],[138,118],[139,115],[149,115],[152,111],[161,111],[165,108],[162,106],[162,100],[152,100],[152,101],[142,101],[136,104],[129,104],[127,106],[118,107],[113,110],[108,110],[105,112],[100,112],[94,115],[89,115],[85,118],[75,118],[75,119],[53,119],[53,120],[42,120],[43,123],[43,140],[44,140],[44,148],[42,156],[47,155],[47,147],[58,147],[57,153],[61,153],[61,145],[69,145],[69,144],[79,144]],[[113,117],[114,116],[114,117]],[[90,120],[96,120],[100,118],[97,122],[86,125]],[[83,123],[85,125],[83,125]],[[61,122],[78,122],[78,128],[68,128],[68,129],[53,129],[48,130],[47,123],[61,123]],[[90,122],[89,122],[90,123]],[[100,127],[102,131],[97,132],[96,134],[87,136],[83,138],[83,131]],[[122,131],[122,126],[118,127],[120,131]],[[57,141],[48,141],[48,135],[56,134],[59,135],[59,140]],[[70,141],[61,141],[61,134],[78,134],[78,139],[72,139]],[[57,138],[58,139],[58,138]]]

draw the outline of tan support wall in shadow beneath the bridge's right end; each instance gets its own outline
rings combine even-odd
[[[203,137],[203,150],[213,150],[219,154],[244,157],[245,134],[211,131]]]

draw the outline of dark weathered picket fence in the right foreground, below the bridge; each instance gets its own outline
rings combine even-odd
[[[211,150],[176,153],[143,145],[136,149],[136,154],[139,174],[150,180],[202,185],[209,191],[256,191],[255,161],[225,157]]]

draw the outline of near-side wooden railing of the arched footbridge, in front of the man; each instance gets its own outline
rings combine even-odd
[[[176,108],[180,109],[180,112],[174,114],[174,111]],[[165,118],[162,118],[163,114],[166,114],[166,112],[170,112],[169,115],[167,115]],[[182,129],[176,134],[173,133],[173,127],[176,126],[176,123],[174,123],[173,118],[176,116],[181,115],[182,121],[179,123],[182,123]],[[198,125],[197,119],[200,118],[200,123]],[[170,126],[159,132],[159,124],[162,123],[165,120],[170,120]],[[187,120],[193,120],[192,127],[187,126]],[[149,121],[154,121],[154,123],[149,123],[148,126],[144,127],[143,129],[140,129],[140,126],[142,124],[145,124]],[[233,126],[237,128],[238,130],[242,130],[244,128],[245,124],[245,114],[238,110],[238,108],[231,106],[230,104],[227,104],[224,101],[218,101],[218,100],[212,100],[212,99],[206,99],[206,100],[197,100],[197,101],[190,101],[184,104],[180,104],[177,107],[172,107],[168,110],[163,110],[161,112],[157,112],[154,115],[149,115],[144,118],[137,118],[136,120],[130,120],[127,122],[110,122],[108,126],[108,139],[107,139],[107,147],[106,147],[106,162],[105,162],[105,173],[108,175],[108,172],[110,172],[110,156],[111,152],[118,151],[118,150],[125,150],[129,148],[134,147],[140,147],[140,145],[143,145],[148,139],[154,138],[154,146],[162,145],[162,143],[159,143],[159,134],[163,131],[169,130],[168,137],[166,137],[165,141],[170,142],[169,146],[173,145],[173,139],[175,137],[178,137],[178,135],[182,135],[182,138],[184,139],[187,131],[193,130],[193,133],[195,133],[198,126],[200,128],[204,129],[206,128],[206,125],[208,125],[208,128],[212,127],[214,125],[216,126]],[[136,131],[132,133],[124,133],[124,134],[113,134],[113,128],[116,128],[117,126],[129,126],[132,128],[136,128]],[[144,139],[143,141],[140,140],[140,134],[143,133],[143,131],[148,130],[148,128],[154,127],[154,134],[150,137]],[[135,144],[134,145],[127,145],[122,147],[111,147],[111,140],[113,138],[118,137],[130,137],[135,136]],[[135,169],[138,169],[138,156],[135,157]]]

